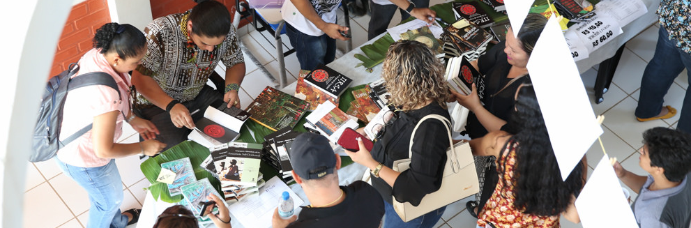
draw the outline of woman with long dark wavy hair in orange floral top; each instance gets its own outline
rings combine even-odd
[[[563,181],[531,84],[516,93],[508,124],[515,135],[496,130],[471,140],[473,155],[496,156],[499,182],[478,213],[478,227],[559,227],[559,215],[579,222],[573,202],[583,188],[584,162]]]

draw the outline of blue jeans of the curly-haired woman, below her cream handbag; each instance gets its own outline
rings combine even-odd
[[[441,214],[446,210],[446,206],[430,211],[414,220],[403,222],[393,209],[393,205],[384,201],[384,226],[382,228],[431,228],[441,219]]]

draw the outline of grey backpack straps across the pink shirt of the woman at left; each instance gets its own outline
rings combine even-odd
[[[79,67],[79,66],[77,66],[77,67]],[[69,92],[73,89],[82,88],[84,86],[94,86],[94,85],[109,86],[110,88],[112,88],[118,92],[118,97],[121,97],[120,89],[118,89],[117,82],[115,82],[115,79],[113,79],[112,76],[110,76],[108,73],[105,73],[105,72],[86,73],[84,75],[79,75],[79,77],[72,78],[72,79],[70,79],[70,82],[68,84],[67,91]],[[93,123],[90,123],[88,126],[85,126],[84,128],[82,128],[80,130],[77,130],[77,132],[70,135],[70,137],[67,137],[67,139],[61,141],[60,142],[60,144],[62,144],[61,146],[65,146],[65,145],[69,144],[70,142],[75,141],[75,139],[84,135],[84,133],[91,130],[91,128],[93,128]]]

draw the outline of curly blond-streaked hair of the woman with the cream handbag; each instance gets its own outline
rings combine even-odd
[[[401,40],[388,47],[381,77],[391,93],[391,105],[407,112],[427,101],[446,108],[449,97],[444,66],[423,43]]]

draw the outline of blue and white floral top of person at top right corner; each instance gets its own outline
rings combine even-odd
[[[658,7],[660,26],[676,40],[676,47],[691,54],[691,1],[662,0]]]

